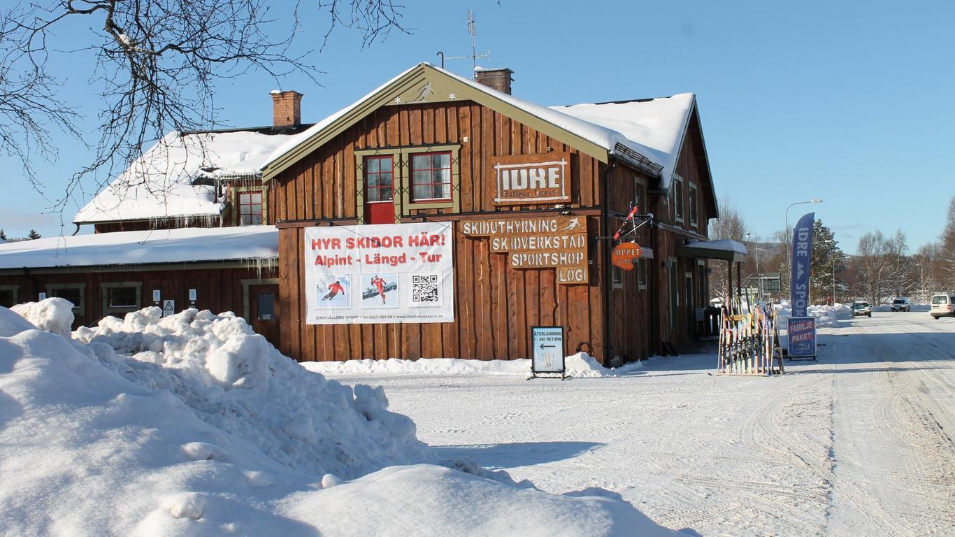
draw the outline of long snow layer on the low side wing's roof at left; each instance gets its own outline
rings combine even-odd
[[[51,237],[0,245],[0,269],[275,259],[275,226],[183,227]]]

